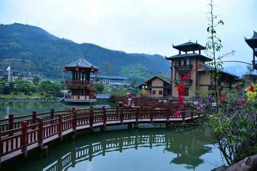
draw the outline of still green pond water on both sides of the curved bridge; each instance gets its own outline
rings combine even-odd
[[[44,106],[67,107],[57,102],[33,104],[23,104],[24,111],[35,110],[36,106],[40,106],[36,109],[39,111],[45,111]],[[14,110],[12,103],[9,110]],[[0,112],[6,115],[6,109]],[[2,170],[211,170],[222,164],[216,143],[207,127],[177,130],[164,124],[139,124],[138,129],[112,126],[104,132],[78,132],[75,140],[66,137],[54,141],[48,145],[48,157],[40,157],[36,149],[26,158],[3,163]]]

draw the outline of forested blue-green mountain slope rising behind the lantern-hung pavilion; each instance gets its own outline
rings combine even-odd
[[[112,75],[126,75],[122,69],[128,65],[142,65],[152,74],[170,72],[170,62],[158,54],[125,53],[94,44],[78,44],[30,25],[0,25],[0,68],[3,70],[10,65],[18,71],[62,78],[63,66],[82,57],[99,66],[103,74],[107,71],[104,68],[106,63],[111,64]],[[130,76],[130,79],[133,78]]]

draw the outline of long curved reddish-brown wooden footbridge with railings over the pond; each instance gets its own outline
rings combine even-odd
[[[186,122],[204,115],[197,112],[195,106],[185,104],[185,109],[176,107],[121,107],[90,108],[36,113],[32,115],[0,120],[0,157],[1,162],[19,155],[28,155],[28,150],[36,147],[43,148],[44,144],[64,135],[76,133],[77,130],[104,128],[111,125],[139,123],[170,123]],[[178,117],[174,116],[180,111]]]

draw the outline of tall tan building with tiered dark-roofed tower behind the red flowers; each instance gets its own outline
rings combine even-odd
[[[198,43],[188,42],[177,46],[173,45],[173,48],[178,50],[178,54],[166,57],[167,60],[171,61],[171,80],[186,82],[193,90],[197,89],[202,92],[211,90],[214,87],[214,83],[206,72],[213,72],[214,68],[206,64],[210,59],[201,54],[201,50],[205,50],[206,47]],[[185,53],[182,54],[182,52]],[[196,67],[198,69],[194,71]],[[236,75],[224,71],[221,71],[221,74],[222,77],[217,81],[217,85],[220,85],[223,89],[231,88],[234,79],[238,78]],[[189,80],[182,81],[182,78],[186,75],[189,75]],[[171,84],[172,96],[178,97],[176,85],[173,82]],[[195,93],[193,91],[185,88],[185,98],[192,98],[194,96]]]

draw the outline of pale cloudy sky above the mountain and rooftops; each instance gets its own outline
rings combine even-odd
[[[127,53],[178,54],[173,45],[207,42],[209,0],[0,0],[0,23],[38,26],[76,43],[93,43]],[[251,63],[252,49],[244,37],[257,31],[257,0],[214,0],[214,14],[224,26],[217,36],[223,49],[235,50],[224,61]],[[224,63],[225,71],[247,71],[242,63]]]

